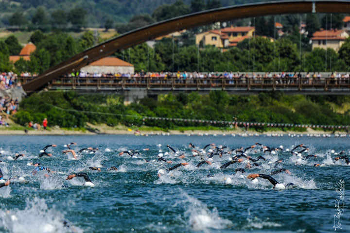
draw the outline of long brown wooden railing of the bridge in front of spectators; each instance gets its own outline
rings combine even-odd
[[[32,77],[24,77],[22,82],[28,82]],[[171,77],[61,77],[49,83],[51,87],[65,88],[239,88],[246,90],[254,89],[336,89],[350,88],[350,78],[297,78],[297,77],[234,77],[212,76],[203,78],[177,78]]]

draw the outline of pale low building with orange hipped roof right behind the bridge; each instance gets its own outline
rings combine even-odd
[[[100,60],[90,63],[88,66],[82,67],[81,71],[87,73],[130,73],[134,74],[134,65],[125,62],[116,57],[104,57]]]

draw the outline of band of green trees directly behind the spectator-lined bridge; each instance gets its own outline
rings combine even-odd
[[[178,38],[181,39],[181,38]],[[69,57],[102,42],[91,31],[74,39],[67,33],[44,34],[35,31],[30,41],[36,46],[31,61],[18,60],[14,67],[9,55],[18,55],[21,45],[15,36],[0,42],[1,70],[40,73]],[[174,52],[174,53],[173,53]],[[222,52],[215,47],[198,49],[194,45],[182,45],[172,39],[164,38],[154,48],[143,43],[115,56],[130,62],[136,71],[348,71],[350,66],[350,39],[347,39],[339,53],[333,49],[301,50],[290,38],[280,38],[276,43],[267,38],[245,39],[237,47]],[[326,57],[327,56],[327,57]],[[300,60],[301,59],[301,60]],[[326,64],[327,61],[327,64]]]

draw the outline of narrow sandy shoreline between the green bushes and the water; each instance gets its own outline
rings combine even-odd
[[[58,127],[53,127],[52,129],[49,129],[47,131],[43,130],[29,130],[28,133],[25,133],[24,130],[7,130],[7,129],[0,129],[0,135],[98,135],[98,134],[109,134],[109,135],[136,135],[135,131],[130,131],[128,128],[125,129],[113,129],[112,127],[104,127],[104,126],[94,126],[95,130],[68,130],[68,129],[60,129]],[[254,136],[254,135],[267,135],[267,136],[280,136],[280,134],[296,134],[296,135],[307,135],[307,134],[318,134],[322,136],[322,134],[343,134],[348,136],[349,133],[346,132],[339,132],[335,131],[333,132],[326,132],[326,131],[316,131],[313,129],[308,128],[305,132],[296,132],[296,131],[266,131],[263,133],[256,132],[256,131],[245,131],[241,128],[234,129],[234,130],[169,130],[167,132],[161,131],[161,130],[141,130],[141,135],[203,135],[203,136],[220,136],[220,135],[227,135],[231,136],[231,134],[235,134],[238,136]],[[349,134],[350,136],[350,134]]]

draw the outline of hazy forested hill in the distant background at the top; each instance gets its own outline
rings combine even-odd
[[[107,19],[114,23],[126,23],[134,15],[152,15],[161,5],[174,4],[176,1],[178,0],[0,0],[0,27],[9,26],[9,18],[15,12],[22,12],[28,21],[32,21],[36,8],[40,6],[50,16],[57,10],[68,13],[73,8],[82,7],[88,16],[87,27],[104,27]],[[262,1],[266,0],[182,0],[190,11],[204,10],[205,5],[211,5],[208,4],[211,2],[214,2],[213,6],[229,6]]]

